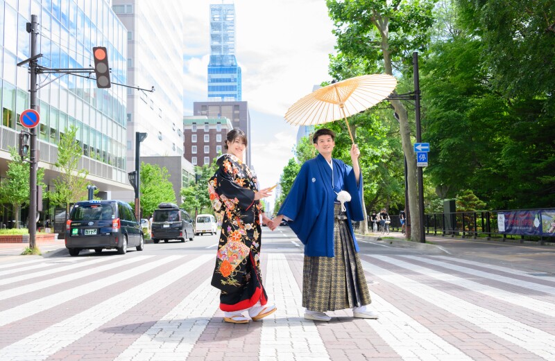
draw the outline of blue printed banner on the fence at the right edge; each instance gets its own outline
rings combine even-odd
[[[508,211],[497,213],[499,233],[555,236],[555,211]]]

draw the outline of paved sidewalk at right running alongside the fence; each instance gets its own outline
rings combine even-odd
[[[555,247],[535,243],[502,242],[502,240],[481,240],[472,238],[452,238],[426,235],[426,243],[405,240],[400,232],[387,236],[370,233],[357,234],[357,239],[391,245],[422,249],[445,256],[466,258],[473,261],[497,263],[506,267],[555,274]]]

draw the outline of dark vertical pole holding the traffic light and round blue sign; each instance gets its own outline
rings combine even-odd
[[[31,15],[31,23],[27,23],[27,32],[31,34],[31,62],[29,68],[31,69],[31,88],[30,105],[31,109],[38,112],[37,107],[37,65],[38,65],[38,52],[37,52],[37,15]],[[29,248],[35,249],[37,247],[37,127],[32,127],[29,132],[31,133],[31,143],[29,144],[29,161],[31,164],[31,171],[29,172],[29,191],[31,197],[29,200]]]

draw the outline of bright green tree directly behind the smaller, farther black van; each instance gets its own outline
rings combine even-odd
[[[162,202],[176,203],[176,192],[169,181],[166,167],[141,162],[139,185],[141,209],[144,215],[151,215]]]

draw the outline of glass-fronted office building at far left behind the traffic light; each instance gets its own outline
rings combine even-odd
[[[38,77],[37,136],[44,183],[50,185],[58,176],[53,166],[57,144],[73,125],[83,148],[79,167],[89,170],[89,179],[101,194],[131,189],[126,174],[127,91],[114,85],[127,84],[127,30],[114,15],[110,0],[0,0],[0,177],[6,176],[8,148],[17,146],[17,133],[22,130],[19,114],[29,107],[28,64],[17,67],[17,63],[31,55],[26,31],[31,15],[38,17],[42,67],[90,68],[92,47],[105,46],[112,69],[110,89],[97,89],[95,80],[82,76]]]

